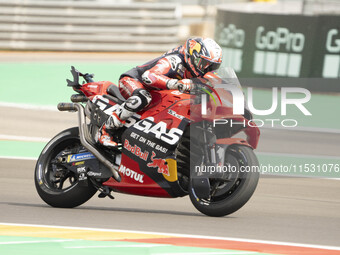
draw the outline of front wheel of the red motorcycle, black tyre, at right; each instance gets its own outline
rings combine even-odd
[[[211,187],[209,199],[199,198],[192,185],[189,186],[192,204],[198,211],[208,216],[221,217],[239,210],[253,195],[259,180],[259,163],[250,147],[231,145],[226,150],[225,159],[225,165],[237,171],[230,171],[225,181],[209,179]]]

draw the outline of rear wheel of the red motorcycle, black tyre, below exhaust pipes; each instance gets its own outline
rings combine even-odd
[[[43,149],[34,180],[39,196],[53,207],[72,208],[88,201],[97,191],[90,181],[80,183],[78,175],[58,162],[67,154],[84,150],[77,127],[62,131]]]

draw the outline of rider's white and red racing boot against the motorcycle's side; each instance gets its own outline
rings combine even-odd
[[[107,132],[109,129],[118,129],[125,124],[125,120],[131,117],[134,112],[127,110],[125,103],[119,105],[113,112],[112,115],[106,120],[102,127],[98,130],[98,142],[104,146],[117,147],[118,144],[112,140],[112,137]]]

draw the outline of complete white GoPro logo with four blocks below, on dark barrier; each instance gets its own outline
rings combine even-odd
[[[283,77],[299,77],[302,64],[301,52],[305,36],[288,28],[278,27],[268,31],[264,26],[256,30],[253,72]]]

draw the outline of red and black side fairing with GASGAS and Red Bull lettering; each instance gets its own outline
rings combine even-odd
[[[152,96],[157,100],[159,94],[163,94],[163,91],[152,91]],[[169,91],[170,92],[170,91]],[[171,96],[169,96],[169,94]],[[189,123],[189,116],[187,115],[183,119],[173,118],[168,113],[167,109],[172,111],[179,111],[183,104],[189,104],[189,95],[185,95],[187,99],[181,99],[179,102],[174,101],[179,97],[177,95],[163,96],[163,98],[169,97],[168,107],[160,111],[156,108],[156,104],[151,102],[150,106],[140,113],[141,118],[139,121],[135,119],[128,119],[128,126],[122,135],[122,142],[124,144],[122,149],[122,161],[121,165],[129,169],[133,169],[138,174],[144,174],[144,185],[149,185],[150,189],[155,184],[159,185],[166,193],[161,192],[157,196],[184,196],[187,193],[179,189],[177,183],[169,183],[164,180],[162,173],[167,173],[168,169],[165,162],[166,158],[172,158],[175,154],[175,149],[183,134],[187,124]],[[174,99],[174,97],[177,97]],[[165,102],[166,100],[163,99]],[[163,102],[164,102],[163,101]],[[154,110],[154,111],[153,111]],[[152,116],[152,117],[150,117]],[[135,122],[131,125],[131,122]],[[170,123],[171,122],[171,123]],[[133,149],[135,148],[135,149]],[[141,153],[143,153],[141,156]],[[127,156],[127,157],[125,157]],[[154,163],[153,159],[162,159],[164,164],[158,165]],[[146,163],[145,163],[146,162]],[[159,163],[160,164],[160,163]],[[122,184],[124,177],[122,178]],[[115,188],[121,186],[121,183],[112,183],[109,181],[106,185],[114,185]],[[128,190],[129,193],[140,194],[140,188],[126,187],[122,185],[120,190]],[[176,192],[174,192],[174,190]]]

